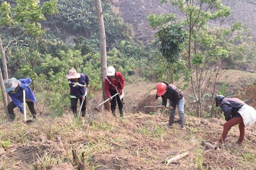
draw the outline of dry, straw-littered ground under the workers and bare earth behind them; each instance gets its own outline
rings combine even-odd
[[[236,76],[230,76],[232,73]],[[218,89],[227,84],[226,93],[236,93],[255,81],[254,73],[227,70]],[[179,82],[176,85],[180,86]],[[106,111],[96,112],[94,104],[101,103],[101,93],[95,93],[87,101],[85,118],[74,118],[71,112],[65,111],[63,116],[55,118],[48,116],[48,112],[38,114],[38,119],[28,125],[23,124],[22,114],[17,114],[14,123],[2,121],[0,169],[256,168],[256,124],[247,128],[243,147],[236,143],[239,130],[234,126],[227,143],[208,149],[202,142],[213,144],[218,140],[225,121],[190,115],[193,103],[188,88],[184,91],[186,129],[180,129],[177,114],[174,128],[170,129],[166,110],[144,108],[160,106],[161,100],[154,98],[155,86],[154,82],[139,81],[125,85],[124,118],[119,117],[118,111],[116,117]],[[38,106],[43,106],[44,100],[40,98]],[[167,160],[184,153],[188,155],[167,164]]]

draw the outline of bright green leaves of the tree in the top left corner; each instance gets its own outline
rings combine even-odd
[[[56,1],[56,0],[54,0]],[[56,3],[45,2],[44,6],[51,10],[51,14],[57,12]],[[39,36],[44,31],[40,21],[45,20],[42,8],[35,0],[19,0],[10,5],[3,2],[0,8],[0,26],[11,26],[24,30],[33,36]],[[45,12],[49,12],[46,10]],[[47,13],[46,13],[47,14]]]

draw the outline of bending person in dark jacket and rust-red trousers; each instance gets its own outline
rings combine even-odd
[[[225,124],[223,125],[223,132],[222,136],[220,136],[220,139],[217,143],[223,143],[227,137],[227,133],[229,133],[229,130],[234,126],[239,124],[239,139],[237,140],[237,143],[242,144],[244,140],[244,135],[246,132],[246,128],[244,126],[243,118],[241,117],[240,113],[238,113],[239,109],[244,106],[244,103],[242,100],[237,98],[227,98],[222,95],[218,95],[215,98],[216,101],[216,107],[222,108],[222,111],[225,116]]]

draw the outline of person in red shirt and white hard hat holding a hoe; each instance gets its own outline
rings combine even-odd
[[[118,104],[120,117],[124,117],[122,97],[124,96],[124,77],[118,71],[115,71],[115,68],[110,66],[107,68],[107,77],[105,78],[105,92],[106,95],[110,98],[111,111],[115,115],[115,107]],[[120,95],[114,96],[116,93]],[[111,97],[114,96],[114,97]]]

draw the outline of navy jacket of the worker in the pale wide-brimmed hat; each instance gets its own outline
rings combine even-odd
[[[80,73],[81,77],[78,78],[78,83],[81,85],[89,85],[90,79],[87,75]],[[85,95],[85,87],[75,85],[75,81],[72,79],[69,80],[69,87],[70,87],[70,96],[75,96],[78,99],[82,99],[83,95]]]

